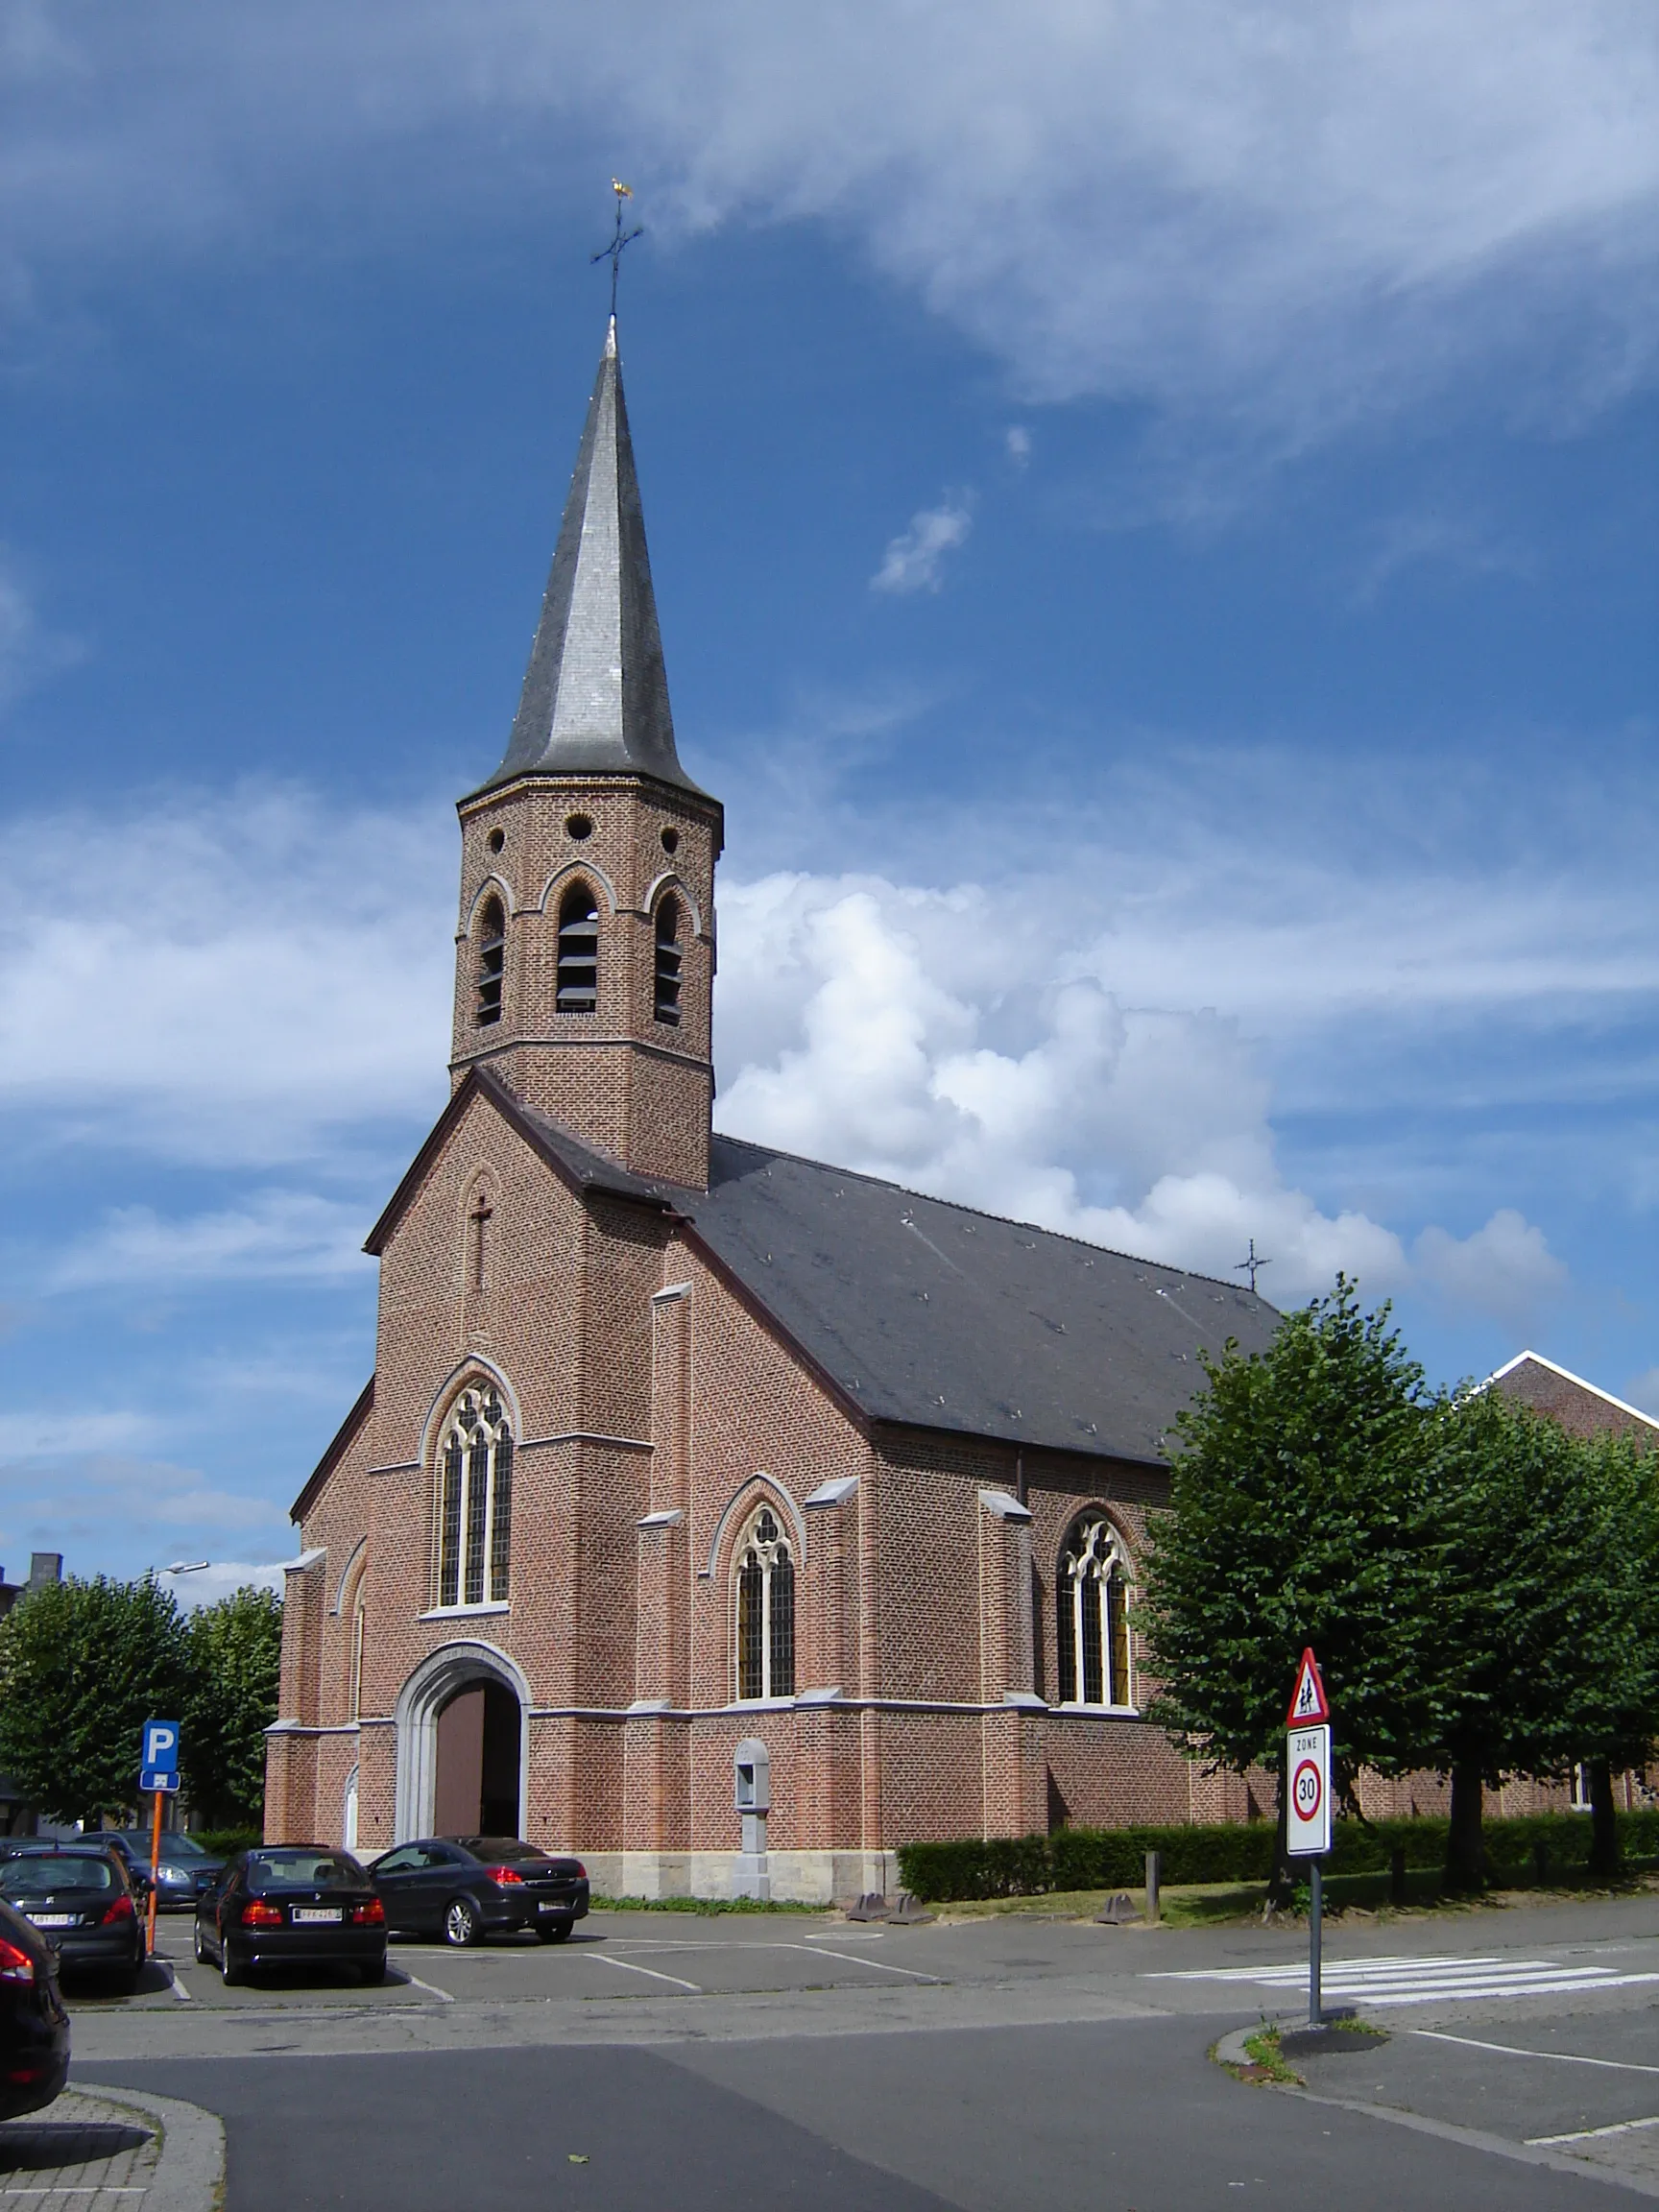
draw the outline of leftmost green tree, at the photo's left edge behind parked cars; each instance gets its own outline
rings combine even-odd
[[[175,1719],[184,1624],[144,1582],[49,1582],[0,1621],[0,1770],[53,1820],[97,1827],[137,1801],[139,1732]]]

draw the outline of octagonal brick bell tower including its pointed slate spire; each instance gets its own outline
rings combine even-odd
[[[456,1082],[706,1190],[723,818],[675,752],[615,316],[507,757],[458,812]]]

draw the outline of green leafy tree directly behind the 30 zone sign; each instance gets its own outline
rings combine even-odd
[[[1332,1699],[1334,1785],[1400,1774],[1431,1734],[1409,1628],[1427,1610],[1431,1400],[1422,1369],[1354,1283],[1287,1314],[1265,1352],[1206,1358],[1179,1420],[1170,1511],[1146,1568],[1152,1703],[1175,1745],[1279,1772],[1303,1646]]]

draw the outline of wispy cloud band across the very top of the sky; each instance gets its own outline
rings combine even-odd
[[[1033,392],[1305,434],[1493,354],[1648,374],[1657,75],[1641,0],[13,7],[0,234],[334,239],[615,155],[659,234],[821,219]]]

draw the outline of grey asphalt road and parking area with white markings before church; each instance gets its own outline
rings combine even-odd
[[[226,1991],[184,1938],[173,1980],[75,2002],[75,2073],[221,2112],[228,2212],[1659,2194],[1659,1898],[1332,1929],[1389,2039],[1298,2059],[1305,2093],[1208,2055],[1298,2013],[1283,1929],[595,1913],[562,1947],[396,1944],[374,1991]]]

